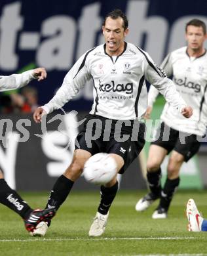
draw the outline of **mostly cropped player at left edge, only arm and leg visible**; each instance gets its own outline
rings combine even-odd
[[[22,74],[13,74],[9,76],[0,75],[0,92],[9,91],[21,88],[29,83],[32,79],[41,81],[47,77],[45,68],[35,68],[28,70]],[[0,170],[0,203],[6,205],[12,211],[20,215],[24,220],[26,230],[32,236],[43,236],[45,228],[47,228],[47,220],[54,216],[51,209],[33,210],[26,203],[16,190],[12,190],[3,177],[3,172]],[[35,219],[35,223],[33,223]]]

